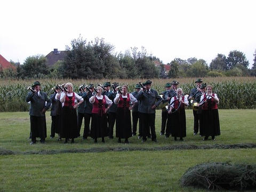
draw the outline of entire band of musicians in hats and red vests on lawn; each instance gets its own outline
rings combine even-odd
[[[212,92],[212,86],[196,80],[196,87],[190,91],[189,96],[183,94],[178,88],[179,82],[165,84],[165,91],[161,94],[151,88],[152,82],[135,85],[135,91],[128,92],[127,85],[118,86],[118,83],[82,85],[79,93],[73,91],[73,84],[57,85],[53,87],[54,94],[50,97],[41,91],[41,84],[37,81],[31,86],[26,97],[30,102],[30,137],[31,145],[39,137],[45,143],[46,119],[45,111],[51,107],[51,138],[58,134],[58,140],[65,139],[64,143],[75,142],[80,136],[84,119],[83,138],[91,137],[94,142],[105,142],[105,137],[114,138],[117,142],[129,143],[129,138],[137,135],[141,142],[151,139],[157,142],[155,118],[156,108],[162,104],[162,125],[160,135],[165,138],[170,135],[176,141],[183,141],[186,137],[185,107],[191,101],[194,114],[194,135],[199,134],[207,140],[209,136],[215,139],[220,135],[217,94]],[[112,88],[112,89],[111,89]],[[131,113],[132,111],[132,113]],[[131,118],[132,117],[132,118]],[[139,123],[139,125],[138,125]],[[91,126],[90,126],[91,125]]]

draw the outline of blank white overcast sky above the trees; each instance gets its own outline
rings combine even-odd
[[[95,37],[124,53],[144,46],[165,64],[174,58],[204,59],[241,51],[252,67],[256,49],[252,0],[8,0],[0,11],[0,54],[27,57],[64,51],[79,35]]]

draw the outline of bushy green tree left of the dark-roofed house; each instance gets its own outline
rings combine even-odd
[[[44,55],[39,54],[28,57],[21,66],[19,76],[21,78],[44,78],[49,74],[46,60]]]

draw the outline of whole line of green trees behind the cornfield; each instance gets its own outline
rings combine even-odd
[[[28,57],[23,65],[10,61],[17,70],[1,69],[1,78],[71,78],[71,79],[132,79],[132,78],[179,78],[179,77],[221,77],[221,76],[256,76],[256,50],[254,63],[249,69],[249,61],[240,51],[230,51],[228,57],[218,54],[210,65],[197,58],[182,60],[175,58],[169,65],[161,59],[148,54],[145,47],[131,47],[124,53],[115,53],[115,46],[106,43],[103,38],[87,42],[79,36],[66,46],[67,55],[53,66],[47,65],[44,55]],[[157,65],[156,65],[157,64]]]

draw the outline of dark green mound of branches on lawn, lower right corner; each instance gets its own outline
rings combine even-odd
[[[256,189],[256,165],[204,163],[190,168],[181,185],[206,189]]]

